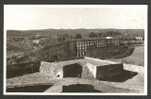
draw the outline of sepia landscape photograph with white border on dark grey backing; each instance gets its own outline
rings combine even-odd
[[[147,95],[147,5],[4,5],[4,95]]]

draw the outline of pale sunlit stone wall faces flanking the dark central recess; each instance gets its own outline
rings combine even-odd
[[[86,79],[94,79],[96,77],[96,68],[92,64],[89,63],[79,63],[82,66],[81,78]],[[70,65],[67,64],[67,66]],[[64,76],[63,67],[66,65],[58,64],[58,63],[50,63],[50,62],[41,62],[40,72],[48,75],[50,79],[62,79]],[[78,68],[78,67],[77,67]],[[66,71],[67,72],[67,71]],[[70,72],[70,71],[69,71]]]

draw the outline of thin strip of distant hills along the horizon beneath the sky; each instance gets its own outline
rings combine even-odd
[[[131,35],[141,35],[143,36],[144,30],[143,29],[43,29],[43,30],[8,30],[8,36],[32,36],[35,34],[43,35],[43,36],[56,36],[58,34],[70,34],[76,35],[81,34],[83,36],[88,35],[91,32],[94,33],[105,33],[108,31],[120,32],[124,35],[131,34]]]

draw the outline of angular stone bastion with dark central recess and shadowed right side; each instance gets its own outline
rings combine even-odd
[[[50,76],[50,79],[63,79],[66,77],[78,77],[86,79],[105,80],[106,78],[120,75],[123,64],[107,62],[95,58],[85,57],[83,59],[62,62],[41,62],[40,72]]]

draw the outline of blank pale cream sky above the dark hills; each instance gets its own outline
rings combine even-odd
[[[4,5],[4,28],[144,29],[146,5]]]

